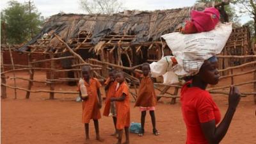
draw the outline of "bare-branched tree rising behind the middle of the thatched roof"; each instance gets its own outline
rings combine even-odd
[[[80,0],[81,8],[89,13],[102,13],[111,15],[124,10],[123,3],[118,0]]]

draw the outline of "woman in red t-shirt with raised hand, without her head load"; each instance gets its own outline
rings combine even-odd
[[[240,93],[236,86],[230,86],[228,109],[221,120],[220,109],[207,92],[208,84],[217,84],[220,78],[215,56],[205,60],[198,74],[184,84],[180,93],[181,109],[187,128],[187,144],[220,143],[234,116]],[[217,126],[217,124],[219,124]]]

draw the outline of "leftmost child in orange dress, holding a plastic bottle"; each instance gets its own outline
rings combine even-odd
[[[89,140],[89,122],[93,119],[95,132],[96,132],[96,140],[103,141],[99,135],[99,118],[100,116],[100,108],[102,106],[102,100],[100,95],[100,86],[99,81],[93,77],[91,77],[91,68],[89,66],[82,67],[82,75],[83,79],[79,81],[84,84],[85,87],[79,84],[79,96],[83,100],[83,116],[82,122],[84,123],[84,129],[86,134],[86,140]],[[81,88],[83,90],[81,90]],[[87,92],[87,97],[82,97],[83,93]]]

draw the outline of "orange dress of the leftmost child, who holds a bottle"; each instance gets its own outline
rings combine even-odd
[[[97,90],[100,88],[101,84],[95,78],[90,78],[90,84],[86,81],[84,85],[86,86],[88,92],[88,99],[83,101],[83,115],[82,122],[88,124],[91,119],[98,120],[101,118],[100,109],[98,107],[98,93]],[[80,86],[78,86],[80,88]]]

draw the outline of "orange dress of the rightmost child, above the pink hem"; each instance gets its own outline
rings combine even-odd
[[[138,76],[138,74],[136,74]],[[149,76],[140,76],[140,88],[138,93],[138,98],[136,100],[135,106],[140,107],[153,107],[156,106],[156,93],[154,90],[154,83]]]

